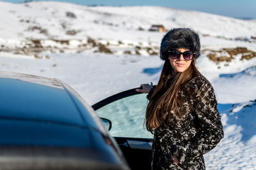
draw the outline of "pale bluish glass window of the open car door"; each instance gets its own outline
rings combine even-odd
[[[109,131],[114,137],[153,138],[144,125],[147,94],[137,94],[114,101],[96,110],[99,117],[112,122]]]

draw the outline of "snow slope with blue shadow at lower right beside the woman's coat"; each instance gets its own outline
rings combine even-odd
[[[207,169],[255,169],[256,101],[218,106],[224,138],[205,155]]]

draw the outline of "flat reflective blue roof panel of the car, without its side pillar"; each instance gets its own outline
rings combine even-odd
[[[0,73],[0,116],[84,125],[61,81],[19,73]]]

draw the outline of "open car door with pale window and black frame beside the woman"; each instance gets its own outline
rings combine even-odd
[[[109,134],[116,139],[131,169],[150,169],[153,134],[144,125],[146,96],[131,89],[92,106],[99,117],[111,120]]]

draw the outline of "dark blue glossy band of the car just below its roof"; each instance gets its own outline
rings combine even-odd
[[[92,134],[91,131],[95,133]],[[90,127],[20,118],[0,118],[0,134],[0,145],[97,148],[104,144],[97,140],[100,133]],[[97,146],[99,143],[100,145]]]

